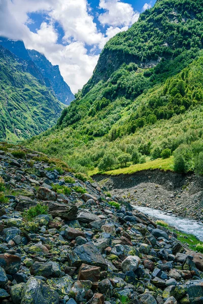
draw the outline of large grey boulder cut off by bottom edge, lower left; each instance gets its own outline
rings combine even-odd
[[[58,304],[59,295],[41,280],[30,278],[22,291],[21,304]]]

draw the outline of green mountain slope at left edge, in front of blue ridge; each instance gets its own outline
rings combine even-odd
[[[35,64],[0,46],[0,140],[17,141],[52,127],[62,105],[42,80]]]

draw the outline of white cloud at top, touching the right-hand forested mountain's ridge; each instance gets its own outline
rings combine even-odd
[[[99,15],[102,25],[130,26],[138,21],[139,13],[134,12],[132,6],[120,0],[100,0],[99,8],[106,10]]]

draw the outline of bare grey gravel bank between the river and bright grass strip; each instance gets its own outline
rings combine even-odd
[[[141,205],[203,221],[203,178],[159,170],[128,175],[97,175],[95,179],[112,195]]]

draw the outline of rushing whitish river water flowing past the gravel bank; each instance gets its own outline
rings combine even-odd
[[[187,234],[192,234],[197,237],[200,241],[203,241],[203,224],[186,217],[180,217],[175,215],[167,215],[165,212],[142,207],[142,206],[133,206],[138,211],[143,212],[149,216],[152,216],[157,219],[162,219],[169,225],[175,227],[177,230],[182,231]]]

